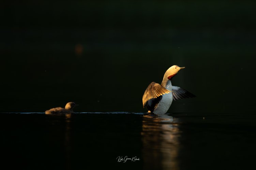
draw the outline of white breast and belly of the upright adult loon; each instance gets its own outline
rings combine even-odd
[[[154,114],[157,114],[157,115],[165,114],[170,108],[171,103],[172,103],[172,93],[170,92],[168,94],[163,95],[162,99],[154,109]]]

